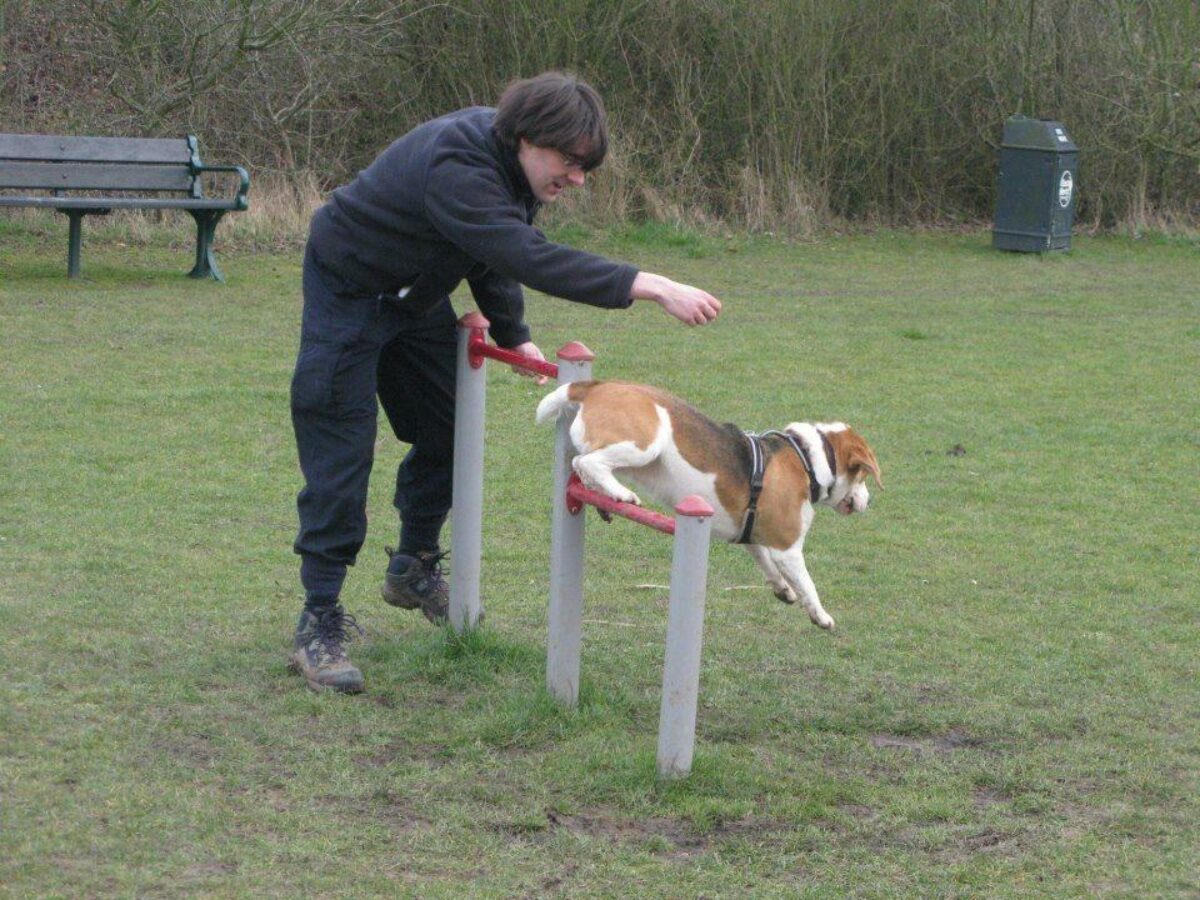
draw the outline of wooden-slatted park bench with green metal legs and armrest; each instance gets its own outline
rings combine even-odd
[[[210,173],[217,173],[215,176]],[[205,196],[205,175],[233,196]],[[0,134],[0,206],[41,206],[71,220],[67,276],[79,275],[84,216],[114,209],[181,209],[196,220],[193,278],[224,281],[212,257],[212,234],[230,210],[250,206],[250,175],[240,166],[204,166],[186,138],[97,138]]]

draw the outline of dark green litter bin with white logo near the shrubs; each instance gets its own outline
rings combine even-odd
[[[1062,122],[1014,115],[1000,144],[991,246],[1042,253],[1070,248],[1079,148]]]

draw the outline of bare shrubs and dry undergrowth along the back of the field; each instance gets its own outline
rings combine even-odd
[[[1200,217],[1195,0],[8,0],[12,131],[196,133],[290,233],[424,119],[562,67],[616,140],[575,211],[804,233],[991,216],[1003,120],[1081,148],[1081,227]],[[270,192],[259,185],[272,185]],[[239,218],[239,217],[234,217]],[[238,229],[265,229],[245,217]],[[258,240],[258,238],[256,238]]]

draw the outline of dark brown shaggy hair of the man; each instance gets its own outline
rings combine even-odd
[[[608,152],[608,120],[600,95],[566,72],[542,72],[510,84],[497,104],[494,128],[514,150],[524,138],[577,160],[587,172]]]

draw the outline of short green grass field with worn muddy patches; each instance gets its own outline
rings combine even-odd
[[[821,632],[713,548],[696,763],[659,782],[670,541],[589,521],[577,710],[542,686],[551,428],[488,372],[484,629],[377,595],[380,430],[343,600],[368,692],[286,670],[299,252],[0,223],[0,894],[1192,895],[1200,252],[985,233],[574,241],[725,301],[530,296],[535,340],[746,428],[844,419],[872,510],[821,510]],[[460,312],[468,308],[458,304]]]

